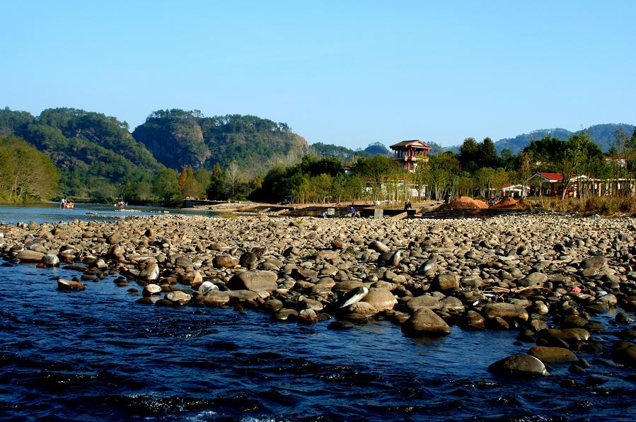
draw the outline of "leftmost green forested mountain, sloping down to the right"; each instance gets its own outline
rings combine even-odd
[[[117,186],[151,182],[163,168],[125,122],[71,108],[0,110],[0,134],[21,136],[61,170],[62,192],[78,197],[117,196]]]

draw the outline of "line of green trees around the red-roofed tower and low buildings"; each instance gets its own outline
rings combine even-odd
[[[551,136],[533,140],[517,154],[497,153],[490,138],[481,142],[465,139],[458,153],[444,151],[420,161],[415,172],[400,167],[390,156],[352,156],[345,151],[320,154],[310,151],[287,162],[274,163],[264,176],[232,162],[226,168],[217,163],[204,177],[200,170],[174,172],[173,194],[208,199],[252,199],[267,202],[350,203],[352,201],[408,201],[449,199],[458,196],[489,198],[502,187],[521,184],[538,189],[531,177],[536,172],[558,172],[563,184],[577,175],[600,180],[634,177],[636,169],[636,130],[629,136],[617,131],[610,151],[603,153],[585,132],[562,141]],[[608,159],[608,156],[611,159]],[[623,158],[617,160],[615,158]],[[349,158],[349,159],[348,159]],[[345,168],[349,169],[345,174]],[[200,175],[197,176],[197,172]],[[591,193],[591,182],[579,183],[579,195]],[[156,191],[158,192],[158,191]],[[198,196],[197,196],[198,192]],[[623,192],[625,192],[623,190]],[[615,192],[614,192],[615,193]],[[524,191],[524,195],[528,191]],[[565,189],[562,192],[565,197]]]

